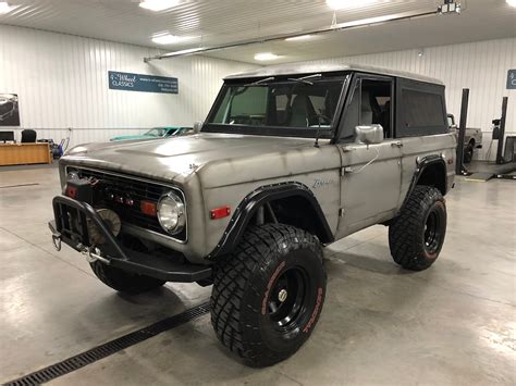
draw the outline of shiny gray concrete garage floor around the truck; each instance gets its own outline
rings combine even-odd
[[[38,184],[9,187],[17,184]],[[0,382],[66,359],[208,300],[168,284],[121,296],[87,262],[54,251],[46,222],[56,169],[0,171]],[[447,198],[440,260],[410,273],[376,226],[325,251],[328,297],[309,341],[290,360],[248,369],[218,344],[209,316],[52,382],[82,384],[516,383],[516,185],[458,180]]]

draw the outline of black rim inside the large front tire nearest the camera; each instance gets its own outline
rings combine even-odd
[[[300,267],[284,271],[271,289],[268,310],[273,328],[283,335],[294,334],[306,313],[309,281]]]

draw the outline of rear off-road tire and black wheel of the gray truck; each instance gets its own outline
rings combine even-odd
[[[426,270],[438,259],[445,234],[446,204],[443,196],[437,188],[416,186],[400,216],[389,226],[391,254],[404,269]]]

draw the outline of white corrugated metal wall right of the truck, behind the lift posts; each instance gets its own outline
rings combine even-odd
[[[418,53],[422,52],[422,57]],[[431,47],[421,50],[374,53],[320,60],[312,63],[356,63],[409,71],[432,76],[446,85],[447,111],[460,114],[462,89],[469,88],[468,127],[480,127],[484,159],[491,142],[491,121],[502,113],[508,97],[506,133],[516,135],[516,90],[506,89],[507,72],[516,69],[516,38]],[[491,159],[496,154],[493,144]]]

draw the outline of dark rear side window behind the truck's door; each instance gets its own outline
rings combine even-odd
[[[444,87],[400,79],[397,137],[447,133]]]

